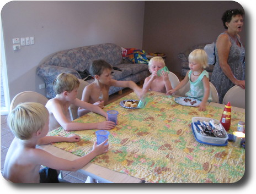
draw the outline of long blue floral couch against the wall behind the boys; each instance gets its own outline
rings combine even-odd
[[[132,80],[135,83],[145,80],[148,76],[147,64],[134,64],[122,57],[122,49],[113,43],[103,43],[99,45],[84,46],[79,48],[59,51],[47,56],[36,69],[42,79],[45,80],[46,97],[54,98],[55,92],[52,82],[57,75],[64,72],[75,75],[81,79],[78,71],[89,71],[89,65],[93,60],[103,59],[113,65],[113,79],[115,80]],[[120,71],[121,70],[121,71]],[[91,83],[94,79],[87,80]],[[120,87],[110,87],[109,95],[122,90]]]

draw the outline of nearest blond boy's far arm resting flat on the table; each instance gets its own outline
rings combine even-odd
[[[62,137],[62,136],[45,136],[38,140],[37,145],[45,145],[49,143],[55,143],[55,142],[77,142],[80,140],[80,137],[76,134],[71,134],[68,137]]]

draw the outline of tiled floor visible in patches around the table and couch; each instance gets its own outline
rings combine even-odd
[[[183,79],[183,77],[179,76],[179,73],[177,73],[176,75],[179,77],[179,80]],[[140,85],[140,87],[142,87],[142,85]],[[121,95],[119,95],[118,93],[114,93],[113,95],[109,96],[109,103],[114,102],[117,99],[122,98],[131,92],[132,91],[129,88],[125,88],[122,91]],[[12,143],[13,138],[14,135],[12,134],[12,131],[10,131],[7,125],[7,115],[1,115],[1,173],[3,173],[4,160],[6,158],[8,148],[10,146],[10,143]],[[87,176],[77,171],[63,171],[63,179],[72,183],[83,183],[86,181]]]

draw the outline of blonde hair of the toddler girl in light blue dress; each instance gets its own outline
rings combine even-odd
[[[207,53],[203,49],[195,49],[189,54],[189,62],[197,62],[205,69],[208,66]]]

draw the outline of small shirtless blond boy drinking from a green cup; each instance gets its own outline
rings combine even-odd
[[[161,76],[157,75],[157,71],[164,68],[164,66],[166,66],[166,64],[162,57],[153,57],[150,59],[148,69],[150,70],[151,75],[146,77],[143,89],[162,93],[172,90],[168,73],[166,71],[162,71],[160,74]]]

